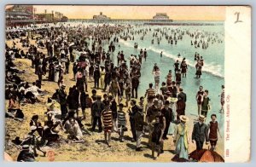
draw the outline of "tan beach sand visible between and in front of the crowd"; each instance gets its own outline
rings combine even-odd
[[[35,43],[34,40],[30,39],[31,43]],[[12,46],[13,41],[9,40],[6,41],[9,47]],[[20,43],[18,40],[15,40],[16,46],[21,49]],[[38,49],[43,53],[46,53],[46,49]],[[26,49],[24,49],[26,51]],[[15,65],[20,70],[26,70],[25,73],[18,74],[21,78],[25,81],[32,83],[38,76],[34,73],[34,69],[31,67],[32,62],[28,59],[16,59],[14,60]],[[64,75],[64,83],[67,85],[66,90],[70,87],[73,87],[75,81],[72,80],[73,72],[72,72],[72,65],[69,66],[70,73]],[[150,69],[151,70],[151,69]],[[27,133],[30,131],[29,122],[32,118],[32,115],[38,114],[39,119],[38,121],[44,123],[46,116],[44,112],[46,112],[46,101],[47,98],[55,92],[55,89],[58,89],[57,83],[47,81],[46,76],[43,77],[43,85],[42,89],[47,91],[47,95],[39,96],[39,100],[41,102],[35,104],[26,104],[21,106],[22,111],[25,114],[25,119],[23,122],[15,121],[11,118],[6,118],[5,120],[5,129],[6,129],[6,139],[13,140],[16,136],[20,136],[20,138],[24,138]],[[91,89],[93,87],[93,82],[90,81],[88,84],[88,93],[91,96]],[[97,90],[97,95],[103,95],[101,89]],[[123,100],[125,103],[125,100]],[[6,101],[6,108],[8,107],[9,101]],[[187,109],[189,110],[189,108]],[[124,109],[127,112],[127,107]],[[79,109],[80,116],[82,115],[81,109]],[[189,139],[191,138],[193,124],[196,121],[196,116],[188,115],[189,117]],[[126,114],[127,120],[129,120],[128,113]],[[90,109],[86,109],[86,120],[82,121],[84,124],[85,129],[90,129]],[[136,142],[131,142],[131,127],[130,122],[127,121],[127,128],[128,131],[125,131],[125,142],[119,142],[117,133],[112,134],[112,141],[111,146],[108,147],[104,143],[104,135],[103,133],[97,132],[90,132],[90,135],[84,135],[84,143],[67,143],[67,134],[63,133],[60,130],[59,135],[61,135],[61,142],[58,144],[57,147],[43,147],[45,151],[54,151],[55,153],[55,161],[80,161],[80,162],[171,162],[172,158],[174,157],[173,150],[175,146],[173,144],[172,136],[168,135],[168,140],[164,142],[164,153],[160,154],[160,157],[157,160],[153,160],[151,156],[151,149],[147,147],[148,138],[147,135],[143,137],[142,145],[143,151],[136,152]],[[224,146],[224,139],[218,139],[218,145]],[[210,145],[204,145],[204,148],[210,147]],[[189,141],[189,153],[195,150],[195,143],[192,143],[191,140]],[[9,153],[9,155],[16,159],[18,153],[20,152],[20,148],[16,147],[14,143],[11,141],[5,144],[5,151]],[[223,147],[218,147],[216,152],[221,154],[222,156],[224,153]],[[36,158],[37,161],[49,161],[48,156],[42,157],[42,154],[39,153],[39,156]]]

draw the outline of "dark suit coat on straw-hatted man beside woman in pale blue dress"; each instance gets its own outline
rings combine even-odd
[[[209,141],[207,124],[202,123],[200,125],[199,122],[194,124],[193,132],[192,132],[192,140],[202,141],[202,142],[204,142],[205,140]]]

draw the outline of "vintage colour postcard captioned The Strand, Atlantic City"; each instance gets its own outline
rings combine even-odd
[[[247,162],[249,6],[5,8],[17,162]]]

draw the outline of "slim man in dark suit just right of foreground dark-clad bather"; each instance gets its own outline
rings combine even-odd
[[[172,108],[169,107],[169,101],[165,102],[165,107],[161,110],[162,115],[166,118],[166,129],[164,130],[163,140],[168,139],[167,133],[169,130],[170,123],[173,121]]]

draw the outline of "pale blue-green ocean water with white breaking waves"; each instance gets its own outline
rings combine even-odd
[[[203,22],[202,22],[203,23]],[[220,109],[220,94],[221,85],[224,84],[224,24],[222,22],[218,26],[140,26],[135,27],[135,30],[151,28],[151,32],[147,32],[143,40],[140,40],[142,33],[135,35],[134,40],[119,40],[116,45],[115,52],[113,52],[112,59],[116,64],[117,53],[121,50],[124,51],[125,59],[127,60],[130,55],[139,55],[140,49],[147,49],[147,60],[143,60],[140,78],[140,85],[138,89],[138,96],[143,96],[145,90],[148,89],[148,83],[154,83],[154,75],[152,69],[154,63],[157,63],[160,67],[160,83],[166,82],[166,75],[169,70],[172,70],[172,76],[174,76],[173,64],[176,60],[181,61],[183,57],[186,58],[188,64],[187,78],[182,78],[181,86],[183,92],[187,94],[186,114],[195,116],[197,115],[197,103],[195,101],[195,95],[199,90],[199,86],[203,86],[204,89],[209,90],[209,98],[211,99],[211,111],[208,112],[207,123],[211,120],[210,115],[212,113],[217,114],[219,123],[219,129],[221,133],[224,133],[224,117],[218,110]],[[178,40],[177,45],[174,43],[171,45],[166,40],[165,36],[161,37],[160,44],[157,44],[157,40],[154,38],[154,44],[151,44],[153,39],[154,29],[165,29],[165,32],[171,33],[168,29],[180,29],[189,32],[209,32],[215,33],[218,37],[223,39],[223,43],[209,43],[207,49],[197,48],[194,45],[191,46],[191,38],[185,33],[183,40]],[[138,48],[134,49],[134,43],[138,43]],[[118,46],[119,45],[119,46]],[[108,50],[108,43],[103,46],[105,50]],[[163,56],[160,58],[160,52],[163,51]],[[195,78],[195,52],[203,56],[204,66],[202,68],[201,78]],[[177,55],[181,57],[178,58]],[[175,79],[172,77],[172,79]]]

